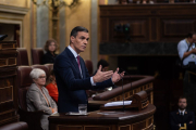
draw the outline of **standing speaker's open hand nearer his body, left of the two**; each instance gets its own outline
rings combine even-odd
[[[102,66],[100,65],[96,75],[93,77],[95,83],[108,80],[113,75],[113,70],[101,72],[101,68],[102,68]]]

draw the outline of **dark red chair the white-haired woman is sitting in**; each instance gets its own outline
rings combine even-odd
[[[33,83],[29,74],[30,66],[17,67],[17,89],[19,89],[19,114],[20,120],[28,123],[29,130],[41,130],[40,117],[44,112],[27,112],[26,92]]]

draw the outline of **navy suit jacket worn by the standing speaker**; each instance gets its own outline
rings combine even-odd
[[[85,90],[105,89],[113,86],[111,79],[91,86],[84,60],[81,57],[79,61],[83,77],[70,49],[65,48],[65,50],[56,57],[53,70],[59,90],[59,113],[78,112],[78,104],[88,103]]]

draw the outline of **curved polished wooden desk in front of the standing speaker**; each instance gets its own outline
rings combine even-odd
[[[49,117],[49,127],[50,130],[152,130],[155,112],[155,105],[149,104],[142,110],[96,110],[87,116],[54,114]]]

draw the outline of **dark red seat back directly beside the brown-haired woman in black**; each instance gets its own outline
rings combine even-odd
[[[42,48],[32,49],[32,62],[33,62],[33,65],[41,64],[42,55],[44,55],[44,49]]]

